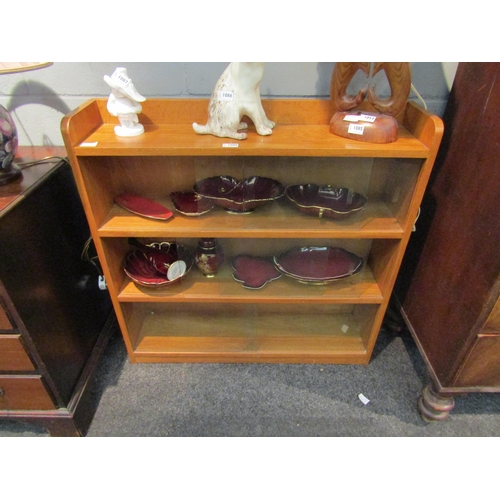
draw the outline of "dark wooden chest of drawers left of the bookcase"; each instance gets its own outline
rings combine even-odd
[[[86,389],[113,316],[81,256],[89,229],[71,168],[30,167],[0,200],[0,417],[84,435]]]

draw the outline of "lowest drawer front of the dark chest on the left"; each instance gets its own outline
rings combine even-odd
[[[55,408],[39,376],[0,376],[0,411]]]

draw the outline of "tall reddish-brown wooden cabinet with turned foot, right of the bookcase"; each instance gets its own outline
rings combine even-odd
[[[460,63],[396,296],[432,379],[424,418],[500,391],[500,63]]]

